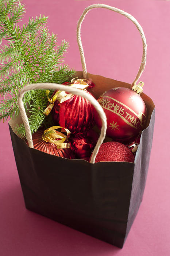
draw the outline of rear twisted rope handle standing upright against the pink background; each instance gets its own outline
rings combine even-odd
[[[142,62],[140,64],[138,74],[136,75],[136,78],[135,78],[134,82],[132,83],[132,85],[136,84],[136,82],[138,81],[138,79],[142,75],[142,72],[144,71],[144,68],[145,68],[145,65],[146,65],[147,44],[146,44],[146,38],[145,38],[145,35],[144,35],[144,32],[143,32],[143,29],[140,26],[140,24],[138,23],[138,21],[131,14],[128,14],[128,12],[124,12],[123,10],[120,10],[118,8],[115,8],[115,7],[106,5],[106,4],[92,4],[92,5],[89,5],[87,8],[85,8],[85,10],[82,13],[80,19],[78,20],[78,24],[77,24],[77,42],[78,42],[78,47],[79,47],[80,56],[81,56],[83,78],[87,78],[87,69],[86,69],[86,62],[85,62],[85,57],[84,57],[84,50],[83,50],[83,46],[82,46],[82,42],[81,42],[81,23],[84,20],[85,15],[88,13],[88,11],[93,9],[93,8],[105,8],[105,9],[108,9],[108,10],[111,10],[111,11],[114,11],[114,12],[118,12],[118,13],[124,15],[125,17],[127,17],[128,19],[130,19],[135,24],[137,29],[139,30],[139,33],[141,35],[142,42],[143,42],[143,55],[142,55]]]

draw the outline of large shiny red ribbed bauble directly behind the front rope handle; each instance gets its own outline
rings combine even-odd
[[[74,95],[62,103],[56,100],[51,114],[55,124],[66,127],[71,133],[82,133],[94,126],[94,107],[81,96]]]

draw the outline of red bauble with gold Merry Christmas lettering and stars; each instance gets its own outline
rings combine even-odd
[[[146,121],[146,106],[135,91],[116,87],[98,100],[107,116],[107,136],[116,141],[129,141],[142,131]],[[96,114],[96,123],[101,127],[101,120]]]

